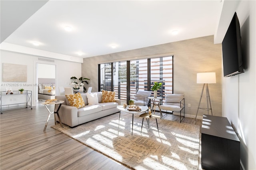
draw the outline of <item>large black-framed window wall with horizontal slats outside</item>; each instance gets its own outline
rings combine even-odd
[[[173,89],[172,59],[173,56],[168,56],[100,64],[99,91],[115,91],[116,98],[128,103],[128,100],[134,99],[136,90],[150,91],[157,81],[162,82],[158,96],[164,97]]]

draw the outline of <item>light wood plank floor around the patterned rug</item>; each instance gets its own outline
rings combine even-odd
[[[51,128],[54,115],[43,132],[47,116],[46,108],[40,104],[33,109],[3,111],[0,115],[1,170],[129,169]],[[179,117],[174,115],[164,119],[179,122]],[[202,124],[201,120],[187,117],[182,122]]]

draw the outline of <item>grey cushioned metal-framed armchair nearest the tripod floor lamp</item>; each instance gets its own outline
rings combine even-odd
[[[166,94],[165,102],[162,105],[160,105],[159,107],[160,107],[161,117],[162,117],[162,110],[172,111],[172,113],[173,112],[180,112],[180,123],[185,117],[185,98],[184,98],[184,95]],[[181,115],[182,110],[184,111],[183,116]]]

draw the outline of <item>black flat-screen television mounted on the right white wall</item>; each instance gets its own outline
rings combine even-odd
[[[236,12],[222,41],[224,77],[244,73],[240,24]]]

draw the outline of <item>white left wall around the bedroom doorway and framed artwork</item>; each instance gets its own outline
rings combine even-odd
[[[23,88],[25,90],[32,91],[32,106],[36,105],[36,63],[44,63],[44,64],[53,64],[56,65],[56,95],[59,95],[58,87],[72,87],[70,85],[70,77],[76,76],[81,77],[81,63],[71,62],[71,61],[64,61],[59,59],[52,59],[54,62],[50,61],[41,61],[38,60],[40,56],[18,53],[13,51],[0,51],[0,64],[2,67],[2,63],[14,63],[14,64],[21,64],[27,65],[27,82],[3,82],[2,81],[2,70],[0,73],[0,90],[5,91],[6,87],[8,87],[8,83],[11,84],[18,84],[18,86],[13,86],[12,90],[18,90]],[[7,86],[6,86],[7,85]]]

